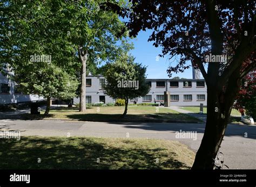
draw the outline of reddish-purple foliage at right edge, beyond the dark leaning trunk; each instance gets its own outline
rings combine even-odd
[[[235,100],[234,107],[241,113],[246,110],[246,115],[256,119],[256,71],[253,70],[251,73],[246,75],[242,80],[242,86],[239,90],[238,96]],[[244,114],[244,113],[242,113]]]

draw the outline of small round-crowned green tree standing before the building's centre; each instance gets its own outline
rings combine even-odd
[[[146,84],[146,67],[134,63],[134,57],[122,55],[116,62],[107,63],[103,69],[107,81],[105,94],[112,98],[125,99],[124,117],[129,99],[145,96],[150,90]]]

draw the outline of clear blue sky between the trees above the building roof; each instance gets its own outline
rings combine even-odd
[[[176,61],[168,60],[168,56],[164,58],[159,57],[159,61],[156,61],[156,57],[161,54],[161,47],[154,47],[153,42],[148,42],[152,31],[140,31],[137,38],[131,40],[134,44],[134,49],[130,52],[136,57],[135,62],[142,63],[147,66],[147,78],[169,78],[166,70],[169,67],[170,62],[173,66],[177,64]],[[173,73],[172,77],[192,78],[192,69],[187,69],[184,73]],[[171,78],[172,78],[171,77]]]

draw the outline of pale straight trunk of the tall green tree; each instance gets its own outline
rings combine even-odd
[[[86,61],[87,61],[87,51],[80,46],[78,48],[79,52],[79,59],[82,63],[81,69],[81,88],[80,88],[80,105],[79,111],[85,112],[86,111]]]

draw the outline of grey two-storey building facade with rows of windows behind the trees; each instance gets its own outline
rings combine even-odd
[[[149,93],[144,97],[130,99],[129,103],[164,103],[164,92],[170,92],[171,106],[207,105],[207,88],[204,79],[147,79]],[[114,103],[116,100],[104,94],[103,86],[106,80],[103,76],[88,76],[86,78],[86,103]],[[79,103],[79,97],[73,99]]]

